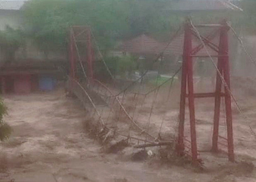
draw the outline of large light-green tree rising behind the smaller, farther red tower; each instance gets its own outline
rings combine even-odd
[[[127,29],[119,6],[118,0],[31,0],[23,15],[26,31],[47,57],[49,51],[66,51],[72,25],[90,25],[102,50],[109,50]]]

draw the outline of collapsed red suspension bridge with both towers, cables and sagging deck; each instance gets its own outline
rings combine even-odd
[[[239,112],[241,112],[241,109],[230,90],[229,42],[227,33],[230,28],[235,33],[234,29],[226,21],[222,21],[219,24],[194,25],[191,20],[187,20],[185,25],[178,29],[153,62],[154,64],[159,60],[175,37],[184,33],[182,66],[176,70],[171,78],[161,84],[158,84],[158,80],[156,80],[157,86],[142,93],[142,79],[148,70],[140,78],[129,83],[124,89],[117,89],[117,82],[99,51],[90,27],[74,26],[71,28],[69,41],[69,91],[83,103],[87,110],[87,119],[93,121],[93,132],[97,134],[97,137],[102,142],[108,141],[111,138],[120,138],[133,143],[133,145],[136,144],[137,147],[171,145],[178,155],[189,157],[193,163],[201,162],[198,158],[199,150],[197,149],[194,99],[213,97],[215,98],[215,107],[212,151],[217,152],[219,144],[226,146],[229,161],[234,161],[231,99],[233,99]],[[208,30],[202,31],[202,29]],[[200,32],[204,32],[206,35],[202,35]],[[236,33],[235,35],[242,44],[238,35]],[[243,44],[242,47],[255,64],[254,59],[249,55]],[[95,52],[98,54],[95,54]],[[214,92],[194,93],[193,58],[209,58],[214,65],[217,72]],[[217,64],[214,61],[215,58],[217,58]],[[105,73],[103,78],[108,77],[110,80],[102,79],[102,75],[98,74],[99,71],[96,71],[99,67],[101,68],[101,74]],[[103,68],[104,70],[102,70]],[[166,84],[170,85],[167,88],[168,91],[163,104],[168,104],[174,78],[179,71],[182,71],[180,112],[178,119],[176,119],[177,122],[172,122],[173,130],[166,131],[166,128],[170,127],[170,125],[165,122],[165,114],[155,117],[152,113],[155,108],[159,107],[156,106],[159,95],[161,95],[159,90]],[[98,79],[105,80],[103,81],[105,83]],[[139,91],[133,92],[131,88],[134,86],[137,86]],[[225,99],[227,137],[219,135],[222,97]],[[185,124],[186,98],[188,98],[189,106],[189,125]],[[124,104],[127,102],[130,104]],[[148,106],[146,116],[140,114],[140,107],[143,104]],[[186,130],[187,127],[189,127],[189,130]],[[251,127],[250,129],[254,134]],[[187,132],[185,133],[184,131]],[[167,132],[169,132],[169,135],[166,135]],[[227,144],[221,143],[219,140]],[[141,143],[143,145],[139,145]]]

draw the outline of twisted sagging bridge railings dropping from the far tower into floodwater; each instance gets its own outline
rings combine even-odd
[[[106,122],[106,117],[104,116],[104,111],[101,112],[100,107],[97,104],[95,104],[93,96],[91,96],[91,93],[96,93],[100,95],[100,97],[105,101],[106,107],[104,107],[106,110],[110,110],[110,112],[116,113],[120,112],[119,110],[116,110],[113,107],[114,105],[121,108],[121,112],[129,119],[129,122],[132,122],[138,129],[139,132],[137,134],[131,136],[130,134],[127,135],[126,133],[122,133],[118,131],[118,128],[114,128],[114,133],[117,135],[120,135],[121,137],[129,138],[129,139],[135,139],[138,141],[143,141],[146,143],[158,143],[155,141],[155,137],[153,137],[151,134],[144,131],[143,128],[141,128],[129,115],[129,113],[125,110],[124,106],[121,104],[121,102],[118,100],[117,97],[115,97],[103,83],[99,82],[98,80],[89,80],[87,83],[79,83],[77,80],[74,80],[72,78],[68,78],[68,88],[69,91],[72,92],[83,104],[84,108],[86,108],[87,118],[93,119],[95,124],[100,123],[102,128],[105,128],[108,132],[113,130],[111,126],[108,126],[108,123]],[[93,90],[93,91],[92,91]],[[104,94],[103,94],[104,93]],[[110,104],[112,103],[112,105]],[[116,107],[117,108],[117,107]],[[107,132],[107,133],[108,133]],[[135,132],[133,132],[135,133]],[[148,139],[143,139],[141,135],[147,135]],[[149,138],[150,137],[150,138]]]

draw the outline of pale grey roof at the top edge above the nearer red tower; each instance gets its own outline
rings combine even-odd
[[[220,10],[238,10],[241,8],[227,0],[181,0],[172,4],[173,11],[220,11]]]

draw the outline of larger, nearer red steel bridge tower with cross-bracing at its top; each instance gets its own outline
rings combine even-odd
[[[208,36],[200,36],[196,27],[215,28]],[[233,144],[233,126],[232,126],[232,111],[231,111],[231,96],[230,96],[230,68],[229,68],[229,43],[228,31],[229,26],[226,21],[221,24],[201,24],[193,25],[187,22],[184,26],[184,47],[183,47],[183,62],[182,62],[182,77],[181,77],[181,95],[180,95],[180,115],[178,126],[178,142],[176,150],[178,155],[185,155],[184,150],[184,122],[185,122],[185,100],[188,98],[189,105],[189,120],[191,134],[191,157],[193,162],[197,162],[197,141],[196,141],[196,122],[195,122],[195,98],[215,98],[214,108],[214,129],[212,135],[212,151],[218,151],[218,135],[219,135],[219,116],[221,97],[225,97],[226,108],[226,123],[227,123],[227,148],[229,161],[234,161],[234,144]],[[219,45],[212,42],[214,38],[219,36]],[[196,47],[192,47],[192,37],[200,39],[201,43]],[[193,88],[193,58],[210,57],[208,55],[196,55],[203,48],[210,48],[217,52],[216,55],[211,55],[212,58],[218,58],[218,70],[216,77],[215,92],[210,93],[194,93]],[[211,51],[211,52],[213,52]],[[223,84],[222,84],[223,83]],[[224,92],[222,91],[224,86]],[[187,92],[188,91],[188,92]]]

